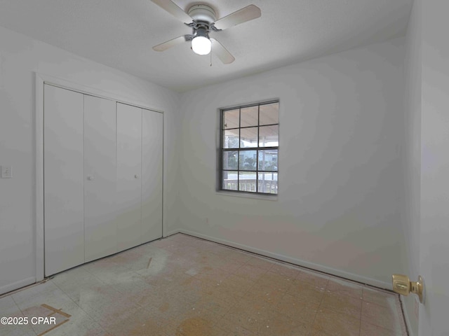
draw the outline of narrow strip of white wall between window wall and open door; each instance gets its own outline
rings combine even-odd
[[[412,281],[420,275],[420,181],[421,181],[421,9],[415,1],[406,35],[404,125],[406,137],[403,150],[404,197],[402,223],[406,237],[407,258],[403,260]],[[417,335],[415,315],[417,296],[402,297],[404,315],[410,335]]]

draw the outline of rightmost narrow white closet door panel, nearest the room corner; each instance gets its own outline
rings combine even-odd
[[[142,109],[142,243],[162,237],[163,114]]]

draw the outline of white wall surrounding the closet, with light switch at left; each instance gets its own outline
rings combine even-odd
[[[168,230],[177,218],[167,209],[175,202],[170,191],[176,188],[179,94],[0,27],[0,165],[13,166],[13,179],[0,179],[0,293],[32,282],[36,274],[34,71],[164,111]]]

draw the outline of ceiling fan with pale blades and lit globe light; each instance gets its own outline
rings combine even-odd
[[[192,41],[192,50],[198,55],[208,55],[213,48],[213,52],[224,63],[234,62],[235,58],[231,53],[215,38],[210,38],[210,31],[221,31],[243,22],[247,22],[256,18],[260,18],[260,8],[249,5],[224,18],[217,20],[215,11],[208,5],[197,4],[191,6],[187,13],[177,6],[171,0],[152,0],[156,5],[160,6],[168,13],[173,15],[185,25],[192,27],[192,34],[179,36],[170,41],[154,45],[153,50],[164,51],[174,45]]]

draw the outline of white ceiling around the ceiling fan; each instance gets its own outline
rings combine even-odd
[[[218,18],[253,3],[262,17],[212,32],[236,57],[224,65],[189,43],[152,46],[191,29],[150,0],[0,0],[0,25],[178,92],[403,36],[413,0],[173,0]]]

